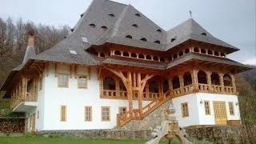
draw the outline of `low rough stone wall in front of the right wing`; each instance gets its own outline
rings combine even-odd
[[[186,127],[185,130],[191,141],[206,140],[214,144],[256,143],[256,126]]]

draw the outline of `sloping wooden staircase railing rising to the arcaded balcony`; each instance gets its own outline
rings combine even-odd
[[[164,102],[169,100],[172,96],[170,93],[170,90],[166,91],[163,96],[158,97],[154,99],[154,101],[150,102],[148,105],[144,106],[142,110],[139,109],[133,109],[126,111],[125,114],[118,114],[117,115],[117,127],[120,128],[124,126],[127,122],[130,122],[131,120],[142,120],[145,118],[148,114],[150,114],[152,111],[158,108],[158,106],[161,106]]]

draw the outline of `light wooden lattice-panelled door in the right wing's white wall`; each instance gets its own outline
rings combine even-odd
[[[214,118],[216,125],[226,125],[226,102],[214,102]]]

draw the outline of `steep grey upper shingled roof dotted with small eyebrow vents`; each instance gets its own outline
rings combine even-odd
[[[133,26],[134,24],[136,26]],[[132,38],[126,38],[127,35]],[[87,42],[82,42],[81,37],[85,37]],[[175,40],[172,42],[173,38]],[[110,42],[148,50],[166,51],[190,39],[226,47],[230,50],[229,53],[238,50],[214,38],[192,18],[165,31],[133,6],[108,0],[94,0],[67,38],[33,59],[97,66],[100,61],[86,51],[94,45],[100,46]],[[70,54],[69,50],[76,50],[78,55]]]

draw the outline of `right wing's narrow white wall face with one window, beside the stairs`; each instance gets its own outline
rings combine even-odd
[[[173,98],[174,107],[176,109],[176,118],[179,126],[199,125],[198,118],[198,98],[196,94],[187,94],[182,97]],[[187,102],[189,109],[189,117],[182,118],[181,104]]]

